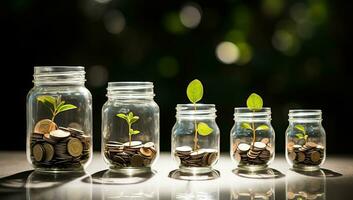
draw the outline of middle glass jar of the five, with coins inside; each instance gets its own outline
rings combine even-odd
[[[172,157],[182,172],[211,172],[219,159],[219,128],[214,104],[178,104],[172,129]],[[208,135],[195,134],[197,124],[213,129]]]

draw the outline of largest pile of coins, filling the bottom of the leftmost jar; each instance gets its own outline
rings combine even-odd
[[[39,121],[31,135],[31,159],[44,168],[79,168],[90,156],[91,137],[74,128]]]

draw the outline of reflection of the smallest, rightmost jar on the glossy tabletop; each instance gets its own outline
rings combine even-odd
[[[286,199],[326,199],[326,176],[322,170],[308,173],[289,171]]]

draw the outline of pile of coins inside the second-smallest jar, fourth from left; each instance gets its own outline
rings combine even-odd
[[[234,143],[234,158],[239,161],[239,165],[263,165],[271,159],[272,147],[268,138],[263,138],[260,142]]]

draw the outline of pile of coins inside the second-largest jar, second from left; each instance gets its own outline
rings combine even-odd
[[[104,155],[116,167],[149,167],[156,158],[157,151],[153,142],[142,144],[141,141],[108,141]]]

